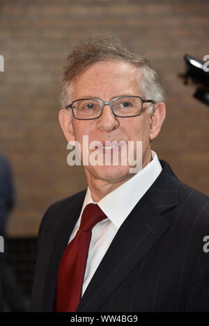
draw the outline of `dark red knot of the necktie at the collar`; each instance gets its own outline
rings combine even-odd
[[[107,215],[104,214],[98,204],[88,204],[82,213],[82,221],[79,229],[91,231],[93,227],[101,220],[104,220],[104,218],[107,218]]]

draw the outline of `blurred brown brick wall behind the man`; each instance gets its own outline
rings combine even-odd
[[[77,40],[118,33],[146,55],[167,88],[167,120],[153,149],[179,179],[209,195],[208,107],[177,78],[183,55],[209,54],[208,1],[1,0],[0,150],[10,159],[17,204],[12,236],[34,236],[52,202],[86,186],[66,164],[58,93],[63,60]]]

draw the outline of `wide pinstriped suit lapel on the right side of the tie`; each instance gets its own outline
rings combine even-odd
[[[96,311],[167,231],[162,213],[176,206],[179,181],[167,162],[160,163],[160,176],[118,229],[77,311]]]

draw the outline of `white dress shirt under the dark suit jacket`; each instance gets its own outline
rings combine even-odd
[[[148,188],[152,186],[155,179],[162,171],[162,166],[157,154],[151,150],[152,161],[143,169],[137,172],[134,177],[128,179],[124,184],[103,197],[98,203],[100,209],[108,218],[99,222],[92,229],[91,243],[88,250],[86,270],[82,287],[82,295],[98,268],[100,261],[107,252],[111,241],[113,241],[118,229],[121,227],[125,218],[130,214],[139,199],[144,196]],[[75,228],[70,236],[70,241],[75,237],[82,218],[82,213],[87,204],[94,203],[89,188],[82,206],[82,211],[77,220]]]

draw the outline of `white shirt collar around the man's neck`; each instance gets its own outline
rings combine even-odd
[[[162,171],[157,154],[151,150],[151,155],[153,159],[150,163],[137,172],[134,177],[103,197],[98,203],[93,202],[90,189],[88,188],[82,212],[87,204],[98,204],[109,220],[119,229],[127,215],[130,214],[134,206],[144,196]]]

